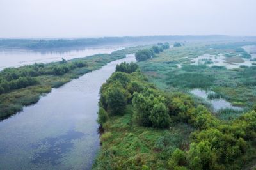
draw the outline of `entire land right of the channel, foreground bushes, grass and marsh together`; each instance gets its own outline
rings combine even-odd
[[[191,65],[195,54],[225,50],[186,46],[155,53],[135,72],[116,68],[102,86],[98,121],[104,133],[94,169],[242,169],[255,160],[256,67]],[[188,93],[193,88],[211,89],[207,98],[226,98],[246,109],[214,114],[209,104]],[[113,89],[119,94],[115,100],[122,99],[120,112],[113,112],[108,100],[115,98]]]

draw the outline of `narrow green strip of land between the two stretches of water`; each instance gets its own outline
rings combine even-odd
[[[6,92],[2,91],[0,95],[0,118],[3,120],[22,111],[24,106],[35,104],[41,95],[51,92],[52,88],[58,88],[72,79],[143,48],[145,47],[129,47],[111,54],[96,54],[63,62],[7,68],[0,72],[0,86],[6,89]],[[29,86],[29,82],[24,83],[22,77],[31,77],[36,83]],[[19,79],[21,80],[17,81]]]

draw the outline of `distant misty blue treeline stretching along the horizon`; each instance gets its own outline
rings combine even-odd
[[[21,48],[21,49],[54,49],[61,47],[79,47],[95,45],[115,45],[134,42],[175,42],[175,41],[218,41],[218,40],[256,40],[255,37],[236,37],[225,35],[204,35],[204,36],[124,36],[124,37],[103,37],[103,38],[60,38],[60,39],[11,39],[0,38],[0,48]]]

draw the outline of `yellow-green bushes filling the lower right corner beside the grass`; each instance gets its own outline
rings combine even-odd
[[[188,151],[173,152],[168,162],[171,169],[241,169],[243,162],[252,157],[248,151],[256,137],[255,111],[227,124],[204,106],[194,107],[191,100],[182,95],[173,96],[168,106],[173,120],[190,123],[198,129],[191,135],[193,142]]]

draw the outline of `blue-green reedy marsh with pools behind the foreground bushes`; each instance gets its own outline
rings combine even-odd
[[[246,44],[246,42],[239,43],[239,45]],[[203,54],[214,56],[220,54],[230,55],[227,58],[241,56],[241,52],[234,50],[237,48],[236,44],[233,45],[231,43],[229,48],[228,50],[223,50],[213,49],[212,45],[186,45],[165,50],[157,54],[157,58],[138,64],[141,71],[148,75],[148,79],[154,82],[158,88],[183,92],[189,92],[194,88],[209,89],[221,96],[221,98],[225,98],[232,105],[244,107],[244,110],[250,110],[256,101],[255,66],[242,65],[239,68],[227,69],[225,66],[209,66],[207,63],[197,65],[193,63],[196,56]],[[211,107],[208,107],[210,105],[207,105],[205,101],[202,101],[202,103],[211,110]],[[237,112],[223,109],[223,112],[218,112],[218,116],[228,120],[242,113],[243,111]]]

